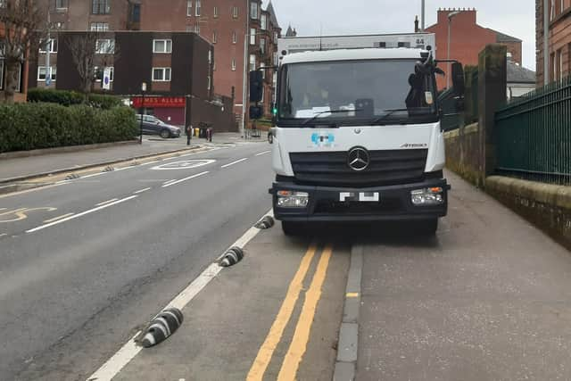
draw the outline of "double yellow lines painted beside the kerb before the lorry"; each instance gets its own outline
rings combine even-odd
[[[269,366],[269,361],[271,360],[273,353],[276,351],[277,344],[279,344],[282,335],[284,335],[285,326],[287,326],[287,323],[292,317],[295,303],[299,299],[299,295],[302,291],[303,279],[307,275],[311,261],[317,251],[318,244],[313,242],[310,244],[310,247],[303,256],[300,267],[297,269],[294,279],[292,279],[292,282],[287,289],[285,300],[282,303],[279,312],[277,312],[277,317],[274,320],[274,323],[269,329],[269,334],[261,345],[260,351],[256,356],[256,360],[253,361],[252,368],[248,373],[248,377],[246,377],[247,381],[261,381],[264,377],[264,373]],[[279,375],[277,376],[278,381],[293,381],[295,379],[297,369],[299,369],[299,365],[310,339],[311,323],[313,322],[319,298],[321,297],[321,288],[327,276],[327,267],[329,266],[329,260],[331,259],[332,253],[333,245],[327,244],[319,258],[318,266],[315,270],[315,274],[313,275],[313,279],[311,280],[310,288],[305,293],[302,313],[297,321],[292,343],[289,345],[287,353],[285,354],[284,362],[279,370]]]

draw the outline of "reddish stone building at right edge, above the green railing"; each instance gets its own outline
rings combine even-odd
[[[536,0],[535,35],[537,44],[537,85],[543,86],[543,1],[548,1],[549,14],[549,78],[571,75],[571,0]]]

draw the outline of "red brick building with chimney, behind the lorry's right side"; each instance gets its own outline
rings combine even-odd
[[[448,26],[449,14],[458,12],[450,19],[451,44],[450,58],[464,65],[477,65],[478,54],[488,44],[508,46],[512,60],[521,65],[522,41],[497,30],[482,27],[476,21],[476,9],[439,9],[438,21],[426,28],[426,32],[436,35],[436,56],[443,60],[448,58]],[[447,65],[443,65],[447,70]],[[438,87],[446,87],[446,78],[438,78]]]

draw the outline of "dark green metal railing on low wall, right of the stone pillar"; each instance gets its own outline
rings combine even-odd
[[[495,121],[498,172],[571,185],[571,77],[507,104]]]

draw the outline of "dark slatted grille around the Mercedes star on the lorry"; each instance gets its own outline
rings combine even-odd
[[[388,186],[424,180],[428,150],[369,151],[366,170],[349,168],[346,152],[290,153],[295,182],[319,186]]]

